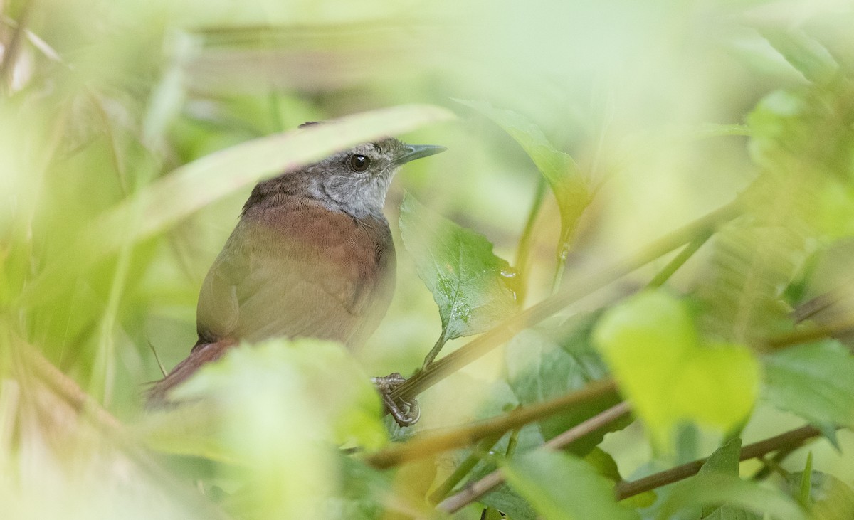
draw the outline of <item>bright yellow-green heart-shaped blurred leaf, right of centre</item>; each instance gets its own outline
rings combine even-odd
[[[594,340],[659,447],[682,421],[727,430],[752,410],[759,367],[750,350],[701,345],[684,303],[664,292],[611,308]]]

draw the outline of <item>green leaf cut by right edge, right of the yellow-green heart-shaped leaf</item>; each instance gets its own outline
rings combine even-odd
[[[838,342],[765,357],[764,397],[814,424],[854,424],[854,357]]]

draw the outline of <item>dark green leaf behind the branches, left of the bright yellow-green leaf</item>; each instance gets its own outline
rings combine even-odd
[[[519,404],[526,406],[554,399],[608,376],[605,363],[589,342],[595,318],[586,316],[582,323],[573,322],[557,329],[546,324],[523,330],[507,344],[507,382]],[[619,395],[612,394],[556,413],[540,421],[541,434],[546,440],[551,439],[619,401]],[[584,435],[567,449],[583,456],[599,444],[606,433],[622,429],[629,422],[627,418],[609,424],[607,428]]]

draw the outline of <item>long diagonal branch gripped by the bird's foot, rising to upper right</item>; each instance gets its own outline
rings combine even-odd
[[[626,260],[617,262],[613,266],[592,276],[585,276],[572,283],[567,283],[566,288],[533,307],[529,307],[522,313],[518,313],[492,330],[478,336],[471,342],[466,343],[459,350],[447,354],[442,359],[430,365],[430,368],[418,371],[410,377],[406,383],[401,384],[391,392],[391,397],[396,400],[411,400],[416,395],[429,389],[443,378],[458,371],[485,353],[504,344],[513,336],[531,325],[538,324],[564,307],[580,300],[582,297],[593,293],[612,283],[617,278],[633,272],[641,266],[645,266],[652,260],[656,260],[664,254],[693,242],[697,237],[703,237],[717,229],[719,225],[734,219],[741,213],[740,201],[730,202],[724,207],[693,221],[677,231],[673,231],[666,237],[653,242],[647,248]]]

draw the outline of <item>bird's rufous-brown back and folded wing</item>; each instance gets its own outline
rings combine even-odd
[[[237,225],[202,284],[203,341],[312,336],[349,342],[357,331],[364,336],[366,319],[371,331],[376,327],[377,313],[368,307],[381,305],[381,315],[389,303],[385,295],[375,297],[387,267],[376,237],[347,215],[298,209]]]

